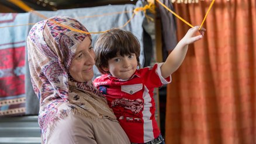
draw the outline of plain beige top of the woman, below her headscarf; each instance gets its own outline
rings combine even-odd
[[[47,143],[54,144],[130,144],[117,121],[101,118],[96,121],[79,115],[68,115],[55,124]]]

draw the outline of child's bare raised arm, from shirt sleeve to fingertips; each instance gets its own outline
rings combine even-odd
[[[199,26],[195,26],[188,30],[186,35],[179,41],[171,54],[168,55],[166,61],[161,66],[161,73],[163,78],[167,78],[175,72],[184,61],[186,51],[188,51],[188,44],[200,40],[205,34],[205,29],[200,29],[200,35],[193,36],[198,31]]]

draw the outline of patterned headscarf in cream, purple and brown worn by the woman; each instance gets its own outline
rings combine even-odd
[[[29,69],[34,92],[40,100],[39,125],[43,143],[47,142],[54,122],[68,114],[78,114],[96,120],[102,116],[116,119],[105,98],[92,81],[75,81],[68,68],[78,45],[90,34],[71,17],[55,16],[34,24],[27,37]]]

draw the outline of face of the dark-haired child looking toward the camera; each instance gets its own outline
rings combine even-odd
[[[119,79],[129,79],[137,69],[137,59],[135,54],[117,55],[117,57],[109,59],[108,68],[103,68],[104,71],[109,71],[112,76]]]

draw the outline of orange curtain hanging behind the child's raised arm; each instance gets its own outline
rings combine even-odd
[[[175,3],[200,25],[211,1]],[[190,28],[177,19],[178,40]],[[216,0],[167,88],[167,144],[256,143],[256,1]]]

